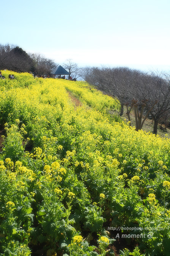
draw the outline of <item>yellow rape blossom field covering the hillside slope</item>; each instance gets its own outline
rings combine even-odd
[[[169,256],[170,140],[88,83],[3,74],[0,255]]]

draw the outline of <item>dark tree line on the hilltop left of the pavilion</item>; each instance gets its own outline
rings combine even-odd
[[[0,69],[16,72],[37,72],[41,75],[50,75],[58,66],[52,59],[47,59],[39,53],[28,54],[19,46],[0,44]]]

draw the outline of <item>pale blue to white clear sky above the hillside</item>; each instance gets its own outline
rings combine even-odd
[[[170,0],[2,1],[0,43],[62,65],[170,70]]]

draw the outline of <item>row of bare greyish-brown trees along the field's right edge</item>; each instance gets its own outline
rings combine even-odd
[[[129,121],[133,108],[137,131],[142,129],[148,116],[153,119],[154,134],[157,134],[158,123],[166,126],[170,120],[170,74],[128,67],[85,67],[81,77],[103,93],[117,98],[121,105],[120,115],[126,106]]]

